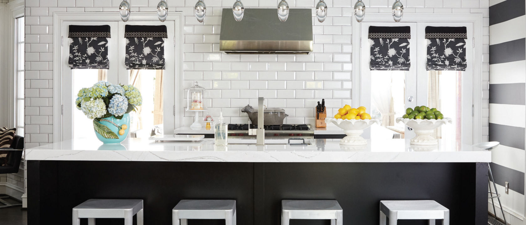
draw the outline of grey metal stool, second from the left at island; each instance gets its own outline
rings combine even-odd
[[[225,219],[236,225],[236,200],[181,200],[172,209],[172,223],[186,225],[188,219]]]

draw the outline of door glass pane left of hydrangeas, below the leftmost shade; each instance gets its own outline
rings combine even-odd
[[[74,69],[73,76],[73,138],[93,138],[93,121],[88,119],[81,110],[77,109],[75,100],[80,89],[92,87],[98,81],[107,81],[108,70]]]

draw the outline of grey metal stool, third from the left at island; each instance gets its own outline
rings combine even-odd
[[[281,224],[291,219],[331,220],[331,224],[343,224],[343,209],[336,200],[282,200]]]

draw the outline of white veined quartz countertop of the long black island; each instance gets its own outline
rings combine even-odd
[[[491,162],[491,152],[462,145],[410,145],[406,140],[369,141],[345,146],[336,141],[307,140],[310,145],[229,144],[217,147],[213,140],[158,142],[128,138],[122,144],[103,145],[96,139],[68,140],[26,149],[27,160],[158,161],[158,162],[359,162],[359,163],[477,163]]]

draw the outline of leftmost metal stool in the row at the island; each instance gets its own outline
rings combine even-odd
[[[79,224],[80,218],[88,218],[89,224],[95,218],[124,218],[125,224],[131,224],[137,214],[137,224],[143,224],[142,199],[89,199],[73,208],[73,224]]]

